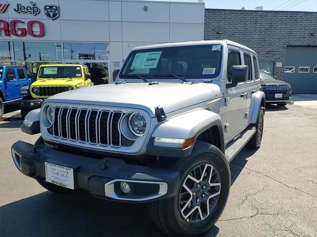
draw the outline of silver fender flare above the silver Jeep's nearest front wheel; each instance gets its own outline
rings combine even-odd
[[[224,152],[222,121],[219,114],[207,109],[191,111],[172,117],[159,124],[152,134],[146,154],[166,157],[186,157],[191,154],[194,145],[188,148],[154,146],[155,138],[189,139],[201,135],[213,126],[217,126],[220,135],[221,150]]]

